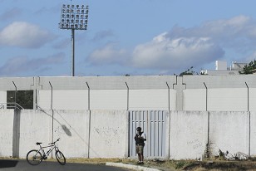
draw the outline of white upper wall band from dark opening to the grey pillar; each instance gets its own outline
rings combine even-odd
[[[176,90],[39,90],[44,110],[175,110]],[[170,98],[170,105],[169,103]],[[129,102],[127,100],[129,99]],[[89,100],[89,101],[88,101]]]

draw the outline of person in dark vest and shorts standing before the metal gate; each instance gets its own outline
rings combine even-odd
[[[145,140],[146,140],[146,136],[145,136],[145,133],[141,131],[141,128],[138,127],[137,129],[137,134],[135,135],[135,144],[136,144],[136,154],[138,154],[138,159],[139,159],[139,162],[138,164],[144,164],[143,163],[143,159],[144,159],[144,156],[143,156],[143,149],[144,149],[144,146],[145,146]]]

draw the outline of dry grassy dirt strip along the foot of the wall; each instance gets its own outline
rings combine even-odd
[[[10,159],[10,158],[0,158]],[[56,159],[47,159],[48,161],[56,161]],[[136,164],[136,159],[66,159],[67,163],[80,163],[80,164],[106,164],[106,162],[123,163],[123,164]],[[160,169],[163,171],[177,171],[177,170],[190,170],[190,171],[204,171],[204,170],[255,170],[255,160],[158,160],[158,159],[145,159],[145,167]]]

